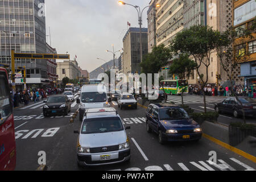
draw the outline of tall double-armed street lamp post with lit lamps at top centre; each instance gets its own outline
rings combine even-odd
[[[140,47],[141,47],[141,62],[142,62],[142,13],[143,11],[147,8],[147,7],[160,7],[159,4],[156,4],[156,5],[150,5],[150,6],[146,6],[142,9],[141,11],[141,8],[139,6],[134,6],[134,5],[130,5],[128,3],[125,3],[123,1],[118,1],[119,5],[129,5],[129,6],[133,6],[137,12],[138,12],[138,19],[139,19],[139,44],[140,44]]]

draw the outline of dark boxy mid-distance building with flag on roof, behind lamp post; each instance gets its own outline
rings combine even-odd
[[[139,28],[130,27],[123,38],[123,73],[140,73],[141,48]],[[147,28],[142,28],[142,55],[148,53]]]

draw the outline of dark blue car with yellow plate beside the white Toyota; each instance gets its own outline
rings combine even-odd
[[[202,130],[187,112],[177,105],[150,104],[146,110],[147,132],[158,134],[159,143],[200,140]]]

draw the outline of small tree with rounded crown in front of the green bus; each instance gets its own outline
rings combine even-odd
[[[195,61],[189,59],[187,54],[180,54],[179,58],[176,58],[172,61],[172,64],[169,69],[169,75],[176,75],[178,76],[179,80],[185,80],[185,78],[189,77],[192,71],[196,69]],[[188,88],[188,86],[184,86],[181,90],[181,102],[183,102],[183,93]]]

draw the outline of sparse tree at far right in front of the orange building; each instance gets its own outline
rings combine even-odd
[[[250,57],[250,52],[246,51],[246,42],[251,39],[255,39],[252,36],[252,33],[255,32],[255,22],[256,18],[254,19],[253,26],[249,28],[233,28],[230,27],[225,32],[222,32],[219,35],[218,44],[217,44],[217,56],[220,59],[220,64],[222,69],[228,75],[230,85],[235,82],[232,73],[237,69],[238,65],[242,62],[245,62]],[[232,46],[234,44],[234,47]],[[239,47],[237,47],[239,45]],[[233,96],[236,97],[236,100],[242,105],[242,102],[238,99],[236,92],[231,89]],[[234,112],[237,112],[234,110]],[[245,111],[242,107],[243,113],[243,122],[246,123],[245,118]],[[236,115],[238,113],[234,113]]]

